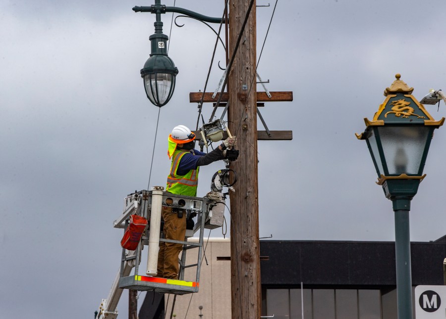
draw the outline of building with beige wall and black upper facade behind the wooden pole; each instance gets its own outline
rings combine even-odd
[[[445,237],[411,243],[413,288],[443,284]],[[262,316],[274,315],[275,319],[397,317],[394,242],[263,240],[260,253],[266,259],[261,261]],[[199,292],[176,297],[175,318],[200,318],[199,306],[203,307],[203,319],[231,318],[230,261],[217,260],[217,257],[229,256],[229,239],[209,240]],[[196,260],[197,256],[191,253],[188,258]],[[153,294],[147,294],[140,319],[164,319],[165,315],[170,318],[173,295],[164,296],[159,304],[150,304],[148,300],[155,300]],[[149,309],[153,314],[149,314]]]

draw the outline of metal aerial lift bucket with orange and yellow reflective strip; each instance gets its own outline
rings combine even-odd
[[[195,223],[193,229],[188,229],[186,231],[186,238],[184,240],[169,240],[160,236],[162,206],[181,208],[187,212],[187,216],[190,216],[191,214],[197,215],[197,223]],[[223,215],[223,211],[220,212],[220,214],[219,212],[215,213],[215,217],[210,218],[210,215],[212,215],[212,212],[210,213],[212,207],[217,208],[219,206],[216,205],[214,200],[210,200],[207,197],[201,198],[171,194],[163,191],[163,187],[160,186],[154,187],[151,191],[141,190],[125,197],[123,213],[116,221],[114,221],[114,227],[127,228],[129,216],[136,214],[149,220],[150,228],[147,229],[142,236],[134,253],[130,253],[123,248],[118,288],[139,291],[154,290],[159,293],[172,293],[178,295],[198,292],[203,255],[204,229],[220,227],[222,225],[219,226],[216,224],[220,224],[220,220],[223,222],[223,217],[220,216]],[[187,241],[187,238],[193,236],[197,231],[199,231],[198,242]],[[183,245],[181,260],[179,261],[180,272],[178,280],[156,277],[159,243],[163,241]],[[147,268],[144,274],[139,274],[141,250],[145,245],[148,246]],[[198,249],[198,258],[196,263],[187,265],[186,254],[190,249]],[[135,269],[133,274],[122,272],[122,270],[125,269],[126,263],[134,265]],[[195,275],[190,281],[184,279],[185,269],[187,268],[195,268]]]

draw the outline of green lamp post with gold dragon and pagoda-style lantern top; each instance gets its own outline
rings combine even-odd
[[[413,88],[401,81],[399,74],[395,77],[373,120],[365,118],[366,130],[356,137],[366,140],[377,184],[393,204],[398,319],[408,319],[412,318],[410,201],[426,176],[423,169],[434,130],[445,118],[435,121],[412,95]]]

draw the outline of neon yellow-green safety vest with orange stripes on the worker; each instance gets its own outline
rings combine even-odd
[[[190,170],[186,175],[176,174],[181,158],[187,153],[187,151],[183,150],[175,150],[173,152],[170,174],[167,176],[166,191],[172,194],[196,196],[199,169]]]

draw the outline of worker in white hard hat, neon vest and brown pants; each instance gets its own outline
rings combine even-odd
[[[225,158],[227,147],[235,145],[235,137],[226,138],[219,147],[209,153],[196,149],[195,134],[184,125],[175,126],[168,137],[167,155],[172,159],[167,177],[166,191],[172,194],[196,196],[200,166],[209,165]],[[229,154],[229,153],[228,153]],[[233,153],[231,154],[233,156]],[[235,159],[238,153],[235,154]],[[234,158],[232,158],[234,160]],[[184,241],[186,234],[186,212],[182,209],[163,206],[164,234],[166,239]],[[178,255],[182,244],[160,242],[158,253],[158,277],[178,278]]]

